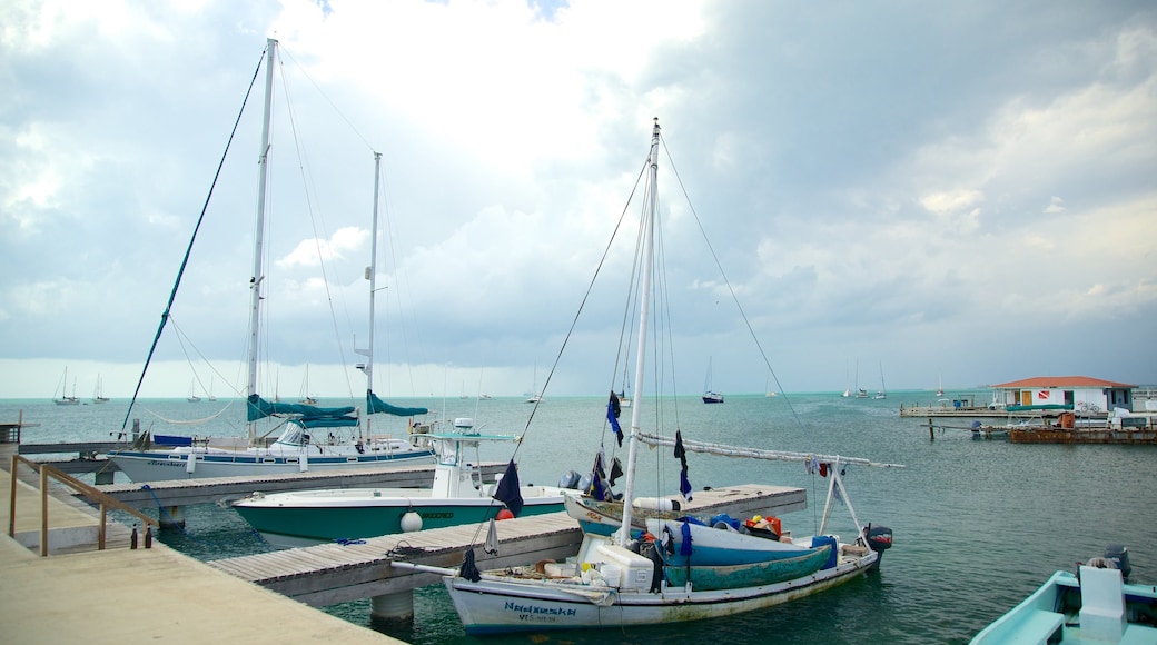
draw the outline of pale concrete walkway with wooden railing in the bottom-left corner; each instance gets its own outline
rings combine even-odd
[[[8,464],[5,464],[7,467]],[[39,491],[17,481],[16,533],[38,532]],[[29,549],[8,536],[10,475],[0,468],[0,632],[3,643],[401,643],[239,580],[157,541],[132,550]],[[96,513],[50,498],[50,533],[95,535]],[[54,540],[50,539],[50,546]],[[38,533],[37,533],[38,543]]]

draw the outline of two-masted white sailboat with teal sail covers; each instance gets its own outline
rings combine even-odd
[[[322,408],[304,403],[280,403],[263,399],[257,392],[259,363],[259,339],[261,303],[266,275],[263,262],[263,237],[265,231],[266,173],[270,161],[270,123],[273,98],[273,71],[275,69],[278,42],[267,40],[264,121],[261,143],[258,153],[259,183],[257,199],[257,223],[253,244],[253,273],[249,280],[249,373],[246,396],[248,440],[239,447],[222,446],[209,439],[193,442],[192,445],[171,450],[153,450],[142,437],[140,445],[127,450],[109,451],[112,460],[133,481],[159,481],[175,479],[220,477],[237,475],[290,474],[316,470],[346,470],[353,468],[391,468],[398,466],[428,465],[434,452],[417,436],[396,438],[375,436],[362,428],[361,417],[354,406]],[[375,205],[376,205],[375,194]],[[375,206],[375,236],[377,212]],[[376,249],[376,240],[375,240]],[[373,284],[373,282],[371,282]],[[174,289],[174,294],[176,289]],[[170,305],[171,299],[170,299]],[[373,328],[373,295],[370,301]],[[162,321],[162,325],[164,322]],[[162,327],[163,328],[163,327]],[[160,338],[159,331],[156,338]],[[154,340],[154,349],[155,349]],[[152,351],[150,351],[152,355]],[[147,364],[146,364],[147,370]],[[143,375],[142,375],[143,378]],[[140,385],[138,384],[138,391]],[[134,396],[135,399],[135,396]],[[130,412],[132,403],[130,403]],[[367,414],[386,413],[413,417],[427,414],[426,408],[403,408],[391,406],[367,388]],[[258,422],[266,417],[281,420],[281,435],[267,447],[258,440]],[[127,415],[126,415],[127,422]],[[363,432],[363,430],[367,430]],[[411,440],[413,439],[413,440]]]

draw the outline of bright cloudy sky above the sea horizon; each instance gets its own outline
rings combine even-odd
[[[0,398],[132,395],[202,208],[141,395],[244,394],[267,38],[266,395],[364,391],[375,203],[375,392],[620,387],[655,118],[677,392],[1157,384],[1152,2],[9,0]]]

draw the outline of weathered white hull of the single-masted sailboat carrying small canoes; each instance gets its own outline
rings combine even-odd
[[[842,558],[832,568],[776,584],[718,591],[663,586],[659,592],[567,581],[523,581],[484,576],[444,579],[466,633],[622,628],[718,618],[789,602],[863,576],[878,554]]]

